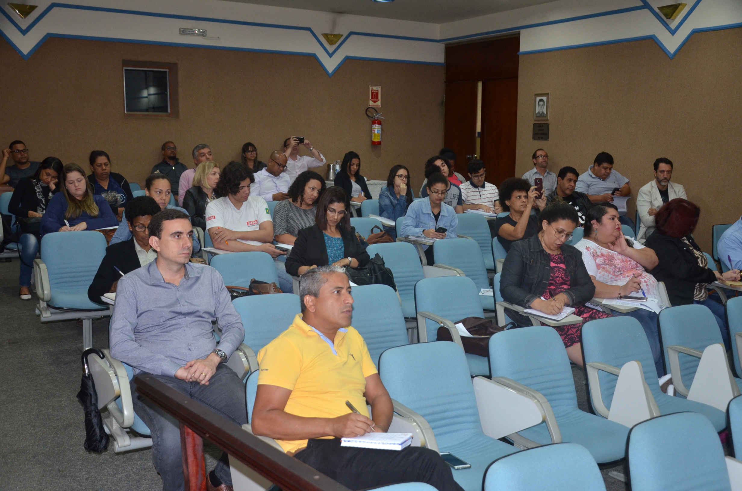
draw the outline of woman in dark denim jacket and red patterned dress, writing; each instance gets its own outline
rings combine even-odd
[[[555,202],[539,215],[538,234],[510,247],[502,266],[500,293],[506,302],[545,314],[559,314],[564,306],[585,321],[610,317],[585,306],[595,293],[582,254],[565,244],[578,223],[577,211],[565,202]],[[508,310],[519,326],[530,326],[528,317]],[[556,326],[571,361],[583,365],[580,347],[582,324]]]

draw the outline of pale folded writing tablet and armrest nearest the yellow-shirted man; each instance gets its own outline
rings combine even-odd
[[[473,384],[485,435],[503,438],[546,421],[551,443],[562,442],[551,404],[540,392],[506,377],[475,377]]]

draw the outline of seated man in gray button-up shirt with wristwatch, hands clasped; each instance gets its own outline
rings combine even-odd
[[[189,263],[188,215],[165,210],[149,224],[157,260],[119,280],[111,317],[111,356],[206,404],[237,425],[247,423],[245,386],[222,362],[245,337],[240,315],[217,270]],[[217,346],[211,321],[222,329]],[[163,490],[183,489],[180,428],[162,409],[134,395],[134,412],[152,434],[152,461]],[[237,426],[235,426],[237,429]],[[226,454],[209,474],[210,489],[232,485]]]

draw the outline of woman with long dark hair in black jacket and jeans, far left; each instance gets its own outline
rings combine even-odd
[[[49,202],[59,191],[59,177],[64,167],[56,156],[49,156],[36,169],[33,177],[20,179],[7,205],[8,211],[16,215],[22,235],[21,245],[21,300],[31,300],[31,274],[33,260],[39,254],[41,224]]]

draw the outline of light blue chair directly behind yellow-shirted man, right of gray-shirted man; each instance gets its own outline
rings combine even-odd
[[[294,322],[294,317],[301,314],[301,300],[298,295],[292,293],[277,293],[236,298],[232,305],[237,314],[240,314],[242,325],[245,328],[245,340],[240,346],[240,352],[247,360],[246,370],[255,372],[257,352],[280,333],[289,329]],[[236,364],[230,368],[239,375],[240,360],[234,360],[234,362]]]

